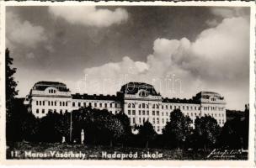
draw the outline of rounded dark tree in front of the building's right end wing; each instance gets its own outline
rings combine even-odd
[[[216,147],[217,139],[221,133],[221,127],[215,118],[205,116],[195,118],[195,141],[197,146],[205,150]]]

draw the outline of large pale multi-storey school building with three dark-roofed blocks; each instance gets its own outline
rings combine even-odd
[[[131,126],[145,121],[152,123],[157,134],[170,119],[170,113],[179,108],[184,115],[195,121],[196,117],[210,115],[223,126],[226,122],[226,102],[216,92],[199,92],[192,99],[163,98],[152,85],[129,82],[121,87],[115,96],[72,94],[61,82],[39,81],[25,98],[32,113],[42,118],[49,112],[65,113],[90,106],[107,109],[110,113],[123,111],[131,121]]]

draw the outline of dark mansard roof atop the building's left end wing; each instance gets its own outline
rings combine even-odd
[[[58,81],[38,81],[35,83],[33,89],[38,91],[45,91],[47,87],[55,87],[60,92],[69,92],[69,89],[64,83]]]

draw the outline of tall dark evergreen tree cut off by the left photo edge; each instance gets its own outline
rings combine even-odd
[[[18,91],[16,90],[17,82],[14,81],[13,74],[16,72],[16,68],[12,67],[13,58],[10,57],[10,52],[8,48],[5,50],[5,82],[6,82],[6,139],[12,139],[13,132],[13,102],[16,95],[18,95]]]

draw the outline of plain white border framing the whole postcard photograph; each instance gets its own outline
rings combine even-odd
[[[101,6],[231,6],[250,7],[250,120],[249,120],[249,155],[248,160],[6,160],[5,145],[5,7],[6,6],[77,6],[77,5],[101,5]],[[0,2],[0,164],[4,165],[205,165],[205,166],[253,166],[254,165],[254,125],[255,125],[255,74],[254,74],[254,50],[255,50],[255,3],[253,2]],[[238,67],[237,67],[238,68]],[[72,164],[71,164],[72,163]]]

